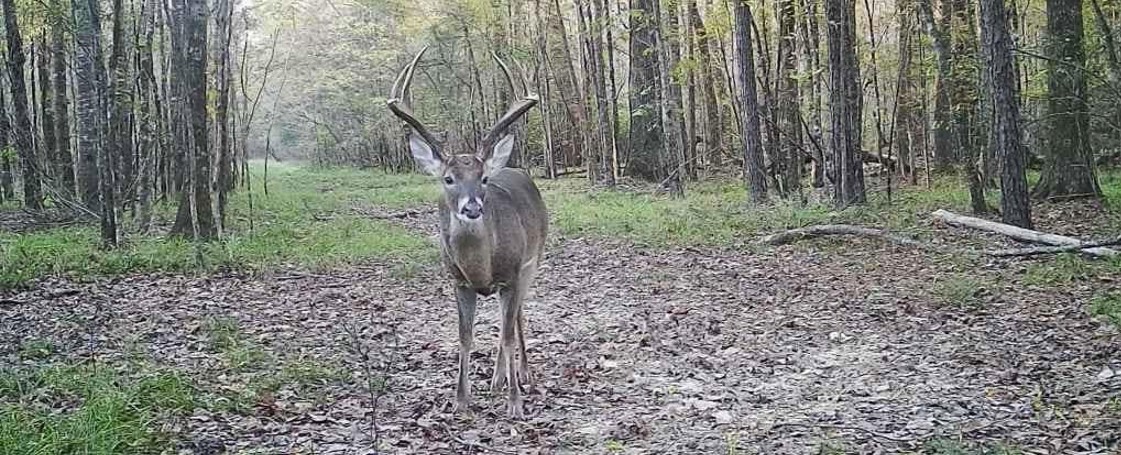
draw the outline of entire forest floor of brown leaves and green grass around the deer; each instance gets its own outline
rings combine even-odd
[[[962,211],[957,193],[919,189],[891,210],[843,215],[779,206],[745,226],[731,220],[741,213],[713,212],[723,187],[678,203],[544,186],[554,232],[526,307],[536,384],[522,421],[487,390],[493,298],[476,323],[472,412],[452,411],[454,297],[427,243],[435,215],[416,210],[430,194],[418,187],[297,204],[316,207],[302,216],[319,223],[389,220],[386,235],[427,244],[378,243],[387,254],[308,264],[276,251],[277,264],[252,272],[234,262],[279,247],[231,242],[223,264],[186,272],[140,252],[87,257],[115,273],[25,260],[56,272],[0,290],[0,453],[1121,448],[1121,261],[939,256],[860,239],[751,244],[840,216],[944,244],[1010,245],[926,219]],[[1043,205],[1038,227],[1121,231],[1112,194],[1104,206]]]

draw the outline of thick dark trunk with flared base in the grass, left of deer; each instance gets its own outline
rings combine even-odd
[[[205,0],[174,0],[172,24],[173,49],[182,65],[172,74],[186,121],[180,140],[186,166],[186,187],[179,195],[179,208],[172,226],[173,235],[193,235],[198,240],[214,238],[214,212],[211,206],[211,157],[206,124],[206,12]]]

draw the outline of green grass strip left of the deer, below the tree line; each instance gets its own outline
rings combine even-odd
[[[369,259],[428,262],[435,254],[423,236],[353,207],[406,207],[435,197],[427,177],[356,169],[270,165],[269,195],[261,193],[261,169],[253,168],[250,231],[249,195],[231,198],[225,239],[198,248],[166,235],[132,235],[113,251],[99,247],[95,226],[33,233],[0,233],[0,289],[47,276],[74,278],[131,272],[188,272],[217,269],[267,270],[281,264],[323,268]],[[164,223],[173,206],[156,211]]]

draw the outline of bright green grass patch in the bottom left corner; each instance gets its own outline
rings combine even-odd
[[[0,453],[145,454],[169,445],[161,422],[189,412],[184,377],[101,364],[0,370]]]

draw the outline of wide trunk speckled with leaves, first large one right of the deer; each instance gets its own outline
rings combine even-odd
[[[631,0],[630,10],[630,160],[628,174],[659,178],[665,149],[658,90],[658,0]]]

